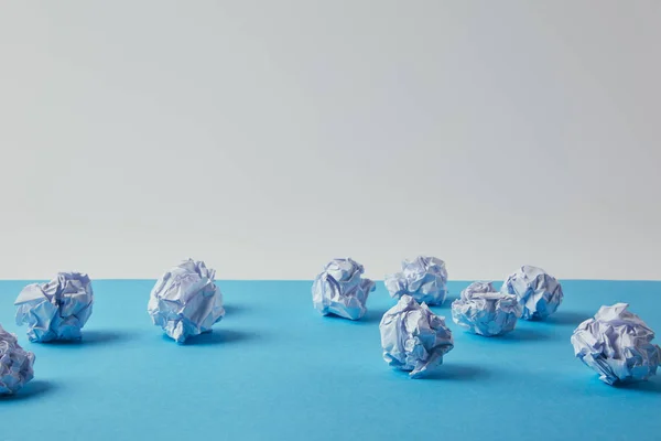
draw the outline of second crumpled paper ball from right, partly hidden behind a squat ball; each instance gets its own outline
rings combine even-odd
[[[562,303],[560,282],[543,269],[522,266],[507,278],[502,292],[517,295],[524,320],[544,320],[553,314]]]

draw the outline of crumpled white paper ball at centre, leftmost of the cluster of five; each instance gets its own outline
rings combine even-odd
[[[323,315],[335,314],[349,320],[365,315],[367,297],[375,282],[360,276],[362,265],[353,259],[333,259],[314,279],[312,302]]]

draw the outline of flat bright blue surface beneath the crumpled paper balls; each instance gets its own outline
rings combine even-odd
[[[464,333],[434,378],[381,359],[382,282],[364,321],[323,318],[310,281],[219,281],[227,315],[178,346],[147,313],[153,280],[94,282],[80,344],[31,344],[13,323],[26,282],[0,282],[0,323],[36,354],[35,379],[0,399],[0,440],[643,440],[661,439],[661,378],[607,386],[574,358],[570,335],[602,304],[626,301],[661,332],[661,282],[565,281],[548,322],[505,337]]]

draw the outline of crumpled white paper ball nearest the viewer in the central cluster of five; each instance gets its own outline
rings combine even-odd
[[[441,366],[443,356],[454,347],[445,318],[411,295],[402,295],[383,314],[379,330],[383,359],[394,368],[410,370],[411,378],[420,378]]]

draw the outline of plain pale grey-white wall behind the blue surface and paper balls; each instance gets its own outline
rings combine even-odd
[[[661,1],[4,1],[0,278],[661,279]]]

